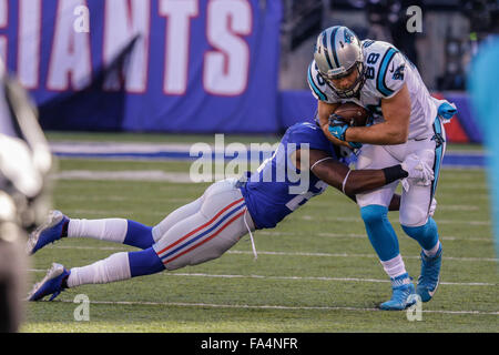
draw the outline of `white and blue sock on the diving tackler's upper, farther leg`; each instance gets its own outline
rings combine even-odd
[[[154,244],[152,227],[124,219],[71,219],[68,225],[68,237],[92,237],[140,248],[147,248]]]

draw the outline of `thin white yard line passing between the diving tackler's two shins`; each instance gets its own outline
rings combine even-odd
[[[65,246],[65,245],[49,245],[49,248],[67,248],[67,250],[100,250],[100,251],[121,251],[125,252],[128,248],[119,247],[119,246]],[[253,252],[246,251],[226,251],[226,254],[252,254]],[[348,253],[313,253],[313,252],[267,252],[267,251],[257,251],[258,254],[262,255],[279,255],[279,256],[325,256],[325,257],[371,257],[378,258],[375,254],[348,254]],[[415,258],[419,260],[419,256],[404,256],[404,258]],[[457,257],[457,256],[444,256],[444,260],[452,260],[460,262],[498,262],[499,258],[495,257]]]

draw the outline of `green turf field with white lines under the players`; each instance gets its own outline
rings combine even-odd
[[[60,171],[163,170],[189,172],[185,162],[61,160]],[[61,180],[54,207],[69,216],[120,216],[153,225],[201,195],[207,184]],[[255,233],[221,258],[105,285],[63,292],[30,303],[22,332],[498,332],[498,263],[482,170],[444,170],[435,215],[444,244],[441,284],[422,304],[421,321],[376,307],[390,285],[365,234],[357,206],[329,189]],[[390,213],[408,272],[419,275],[419,247]],[[81,266],[132,247],[63,240],[31,258],[30,280],[52,262]],[[90,321],[77,322],[78,294],[90,298]]]

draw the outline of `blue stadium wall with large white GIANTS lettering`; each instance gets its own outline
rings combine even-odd
[[[279,92],[278,0],[0,0],[0,58],[47,130],[278,133],[312,120]],[[305,69],[304,69],[305,70]],[[449,140],[481,142],[466,94]]]

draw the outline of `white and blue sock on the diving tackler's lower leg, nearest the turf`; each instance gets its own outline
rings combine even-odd
[[[136,276],[151,275],[164,270],[152,247],[139,252],[121,252],[91,265],[71,268],[68,287],[85,284],[106,284]]]

